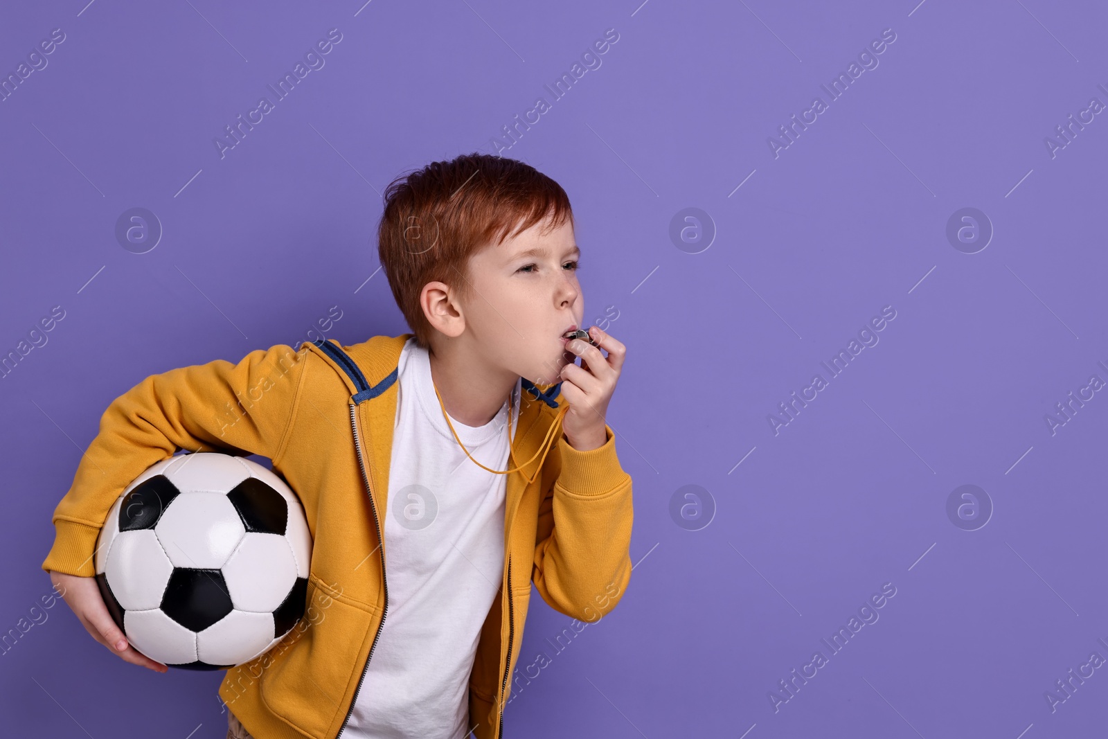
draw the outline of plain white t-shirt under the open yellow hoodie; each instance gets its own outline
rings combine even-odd
[[[504,573],[506,476],[458,445],[409,339],[399,392],[384,523],[389,608],[343,732],[371,739],[469,736],[469,677],[481,626]],[[520,382],[512,392],[512,433]],[[489,423],[450,422],[473,459],[509,464],[507,401]]]

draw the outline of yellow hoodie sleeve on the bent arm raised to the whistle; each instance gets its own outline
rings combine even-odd
[[[564,434],[561,469],[538,506],[532,581],[543,601],[584,622],[606,615],[630,582],[632,479],[605,424],[603,445],[579,451]]]

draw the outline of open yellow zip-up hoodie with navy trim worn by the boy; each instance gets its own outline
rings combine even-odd
[[[109,509],[143,470],[182,449],[270,459],[304,504],[314,538],[307,610],[273,649],[228,669],[219,696],[258,739],[341,737],[388,616],[381,536],[397,365],[411,336],[276,345],[237,365],[220,359],[147,377],[101,417],[54,511],[42,568],[92,576]],[[597,449],[576,450],[561,431],[541,449],[564,401],[558,386],[521,384],[509,469],[523,469],[506,475],[503,579],[469,680],[478,739],[501,736],[531,583],[558,613],[596,622],[630,581],[632,480],[611,427]]]

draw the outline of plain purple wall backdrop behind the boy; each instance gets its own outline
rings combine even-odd
[[[638,2],[8,9],[4,75],[51,29],[66,39],[0,103],[0,351],[52,306],[65,318],[0,382],[0,632],[49,592],[50,515],[112,399],[314,338],[332,305],[328,338],[407,331],[376,271],[379,191],[493,153],[614,28],[602,66],[503,154],[568,192],[586,322],[629,350],[608,421],[637,564],[561,653],[570,619],[532,598],[519,667],[551,664],[516,684],[506,735],[1102,731],[1105,669],[1056,711],[1044,695],[1108,657],[1108,399],[1055,434],[1045,415],[1108,380],[1108,122],[1054,157],[1045,138],[1108,103],[1105,6]],[[331,28],[326,65],[220,158],[224,126]],[[879,66],[829,102],[820,85],[886,28]],[[814,95],[828,110],[774,157],[767,138]],[[114,235],[132,207],[164,228],[146,254]],[[670,239],[686,207],[710,247]],[[963,207],[995,229],[976,254],[946,237]],[[886,305],[880,342],[774,435],[778,403]],[[995,509],[976,531],[946,513],[963,484]],[[699,531],[670,516],[685,485],[715,502]],[[880,620],[831,655],[820,639],[883,583]],[[155,675],[47,613],[0,657],[4,733],[224,736],[222,673]],[[774,712],[769,691],[817,649],[828,664]]]

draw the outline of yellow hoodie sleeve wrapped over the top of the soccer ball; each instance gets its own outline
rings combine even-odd
[[[181,449],[259,454],[276,463],[307,352],[275,345],[237,365],[217,359],[182,367],[152,374],[113,400],[54,509],[54,543],[42,568],[94,575],[96,536],[112,504],[146,468]]]

